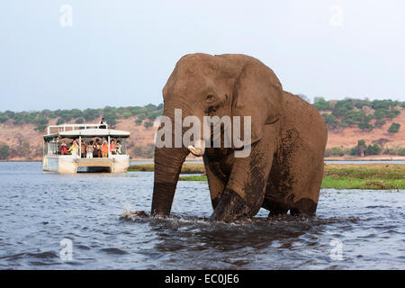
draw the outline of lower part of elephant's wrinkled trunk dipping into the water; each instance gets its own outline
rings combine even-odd
[[[155,148],[155,180],[151,215],[168,216],[187,148]]]

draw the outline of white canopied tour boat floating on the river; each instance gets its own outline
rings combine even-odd
[[[130,166],[130,157],[127,154],[126,140],[130,138],[130,132],[108,129],[107,124],[64,124],[48,127],[47,134],[43,136],[43,171],[57,172],[61,174],[75,174],[77,172],[108,172],[126,173]],[[90,153],[82,157],[82,140],[86,146],[91,140],[100,139],[108,143],[108,153],[104,157],[91,157]],[[112,150],[111,142],[120,141],[121,151]],[[62,155],[63,141],[67,147],[76,140],[78,148],[76,153]],[[78,153],[77,153],[78,152]]]

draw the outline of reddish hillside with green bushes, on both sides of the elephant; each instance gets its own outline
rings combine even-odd
[[[315,98],[313,105],[328,125],[326,156],[405,156],[404,102]],[[130,130],[131,157],[153,157],[157,130],[153,122],[162,112],[163,103],[83,111],[0,112],[0,159],[40,159],[48,125],[98,122],[101,117],[115,129]]]

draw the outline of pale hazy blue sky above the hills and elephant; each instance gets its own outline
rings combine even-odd
[[[193,52],[259,58],[310,98],[405,101],[404,35],[402,0],[1,1],[0,111],[161,103]]]

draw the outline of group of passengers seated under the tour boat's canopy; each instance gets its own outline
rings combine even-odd
[[[73,140],[70,144],[70,147],[67,146],[66,140],[62,140],[62,144],[59,146],[61,155],[73,155],[78,156],[81,152],[80,157],[82,158],[93,158],[93,157],[108,157],[108,142],[106,139],[103,139],[103,142],[100,139],[91,140],[88,143],[85,143],[84,140],[80,143],[81,150],[79,148],[78,140]],[[121,155],[121,141],[114,139],[110,142],[110,153],[112,155]]]

